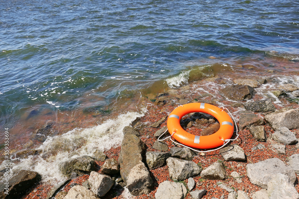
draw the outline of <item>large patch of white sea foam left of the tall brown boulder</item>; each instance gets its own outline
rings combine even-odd
[[[49,137],[39,147],[43,150],[41,155],[31,155],[27,159],[21,159],[19,163],[12,163],[12,171],[31,170],[41,174],[43,181],[60,182],[65,179],[59,170],[60,163],[82,155],[92,156],[96,150],[104,151],[120,146],[123,128],[145,112],[145,109],[141,113],[127,112],[95,127],[73,129],[63,135]]]

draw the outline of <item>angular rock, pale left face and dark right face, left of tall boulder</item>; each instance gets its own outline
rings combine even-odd
[[[103,175],[95,171],[90,173],[88,182],[90,190],[99,197],[103,197],[115,183],[108,175]]]

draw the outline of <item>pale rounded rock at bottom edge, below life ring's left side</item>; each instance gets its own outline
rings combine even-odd
[[[156,199],[182,199],[184,198],[184,193],[181,183],[164,181],[159,184],[157,192],[155,193]]]

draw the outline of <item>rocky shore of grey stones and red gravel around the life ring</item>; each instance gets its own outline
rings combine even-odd
[[[256,89],[269,81],[278,80],[236,79],[228,85],[226,79],[211,78],[205,85],[150,94],[145,99],[147,113],[123,129],[121,146],[65,161],[57,172],[67,180],[56,186],[40,183],[36,172],[22,170],[10,179],[9,195],[1,191],[0,198],[298,199],[299,106],[294,100],[283,107],[273,101],[288,101],[291,93],[299,97],[299,88],[294,84],[267,88],[265,99]],[[209,82],[221,92],[194,92]],[[238,139],[213,152],[157,141],[167,129],[169,113],[190,102],[225,105],[237,118]],[[35,136],[44,139],[50,126]],[[201,113],[184,116],[181,126],[195,135],[210,135],[220,127],[216,118]]]

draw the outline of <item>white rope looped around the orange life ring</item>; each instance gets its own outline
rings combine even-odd
[[[182,105],[180,105],[180,106],[182,106]],[[179,106],[178,106],[178,107],[179,107]],[[177,143],[176,141],[172,140],[171,137],[173,137],[173,134],[176,133],[175,131],[174,131],[170,136],[168,136],[168,137],[166,137],[166,138],[160,140],[160,138],[161,138],[161,137],[168,131],[168,128],[166,129],[166,131],[165,131],[164,133],[162,133],[162,134],[158,137],[158,141],[164,141],[164,140],[166,140],[166,139],[169,138],[173,143],[176,143],[176,144],[178,144],[178,145],[184,146],[184,147],[186,147],[186,148],[188,148],[188,149],[191,149],[191,150],[193,150],[193,151],[196,151],[196,152],[211,152],[211,151],[216,151],[216,150],[218,150],[218,149],[223,148],[223,147],[226,146],[230,141],[237,140],[237,138],[239,137],[239,134],[238,134],[237,122],[236,122],[234,116],[231,114],[231,112],[230,112],[226,107],[223,107],[223,106],[222,106],[222,107],[219,107],[219,108],[222,108],[222,111],[224,111],[224,109],[226,109],[226,110],[228,111],[228,113],[231,115],[231,117],[232,117],[233,120],[234,120],[234,124],[235,124],[235,126],[236,126],[236,135],[237,135],[237,137],[234,138],[234,139],[225,139],[225,140],[221,139],[221,140],[223,141],[223,145],[222,145],[222,146],[220,146],[220,147],[218,147],[218,148],[216,148],[216,149],[211,149],[211,150],[207,150],[207,151],[199,151],[199,150],[193,149],[193,148],[191,148],[191,147],[189,147],[189,146],[186,146],[186,145],[184,145],[184,144]]]

